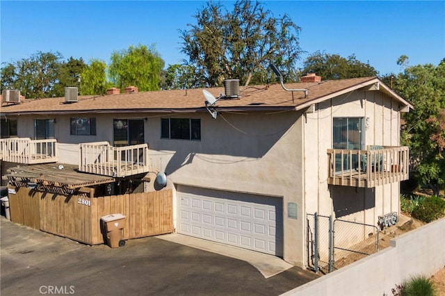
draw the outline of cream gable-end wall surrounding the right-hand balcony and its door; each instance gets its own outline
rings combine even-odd
[[[364,147],[400,145],[398,104],[382,92],[356,90],[316,106],[303,124],[307,213],[332,215],[376,225],[378,215],[399,209],[399,183],[372,189],[327,184],[327,149],[332,149],[335,117],[364,118]]]

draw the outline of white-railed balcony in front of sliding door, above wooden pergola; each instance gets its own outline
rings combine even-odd
[[[148,145],[113,147],[108,142],[79,144],[79,171],[124,177],[149,172]]]

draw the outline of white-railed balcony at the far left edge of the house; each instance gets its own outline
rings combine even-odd
[[[57,140],[31,140],[30,138],[8,138],[0,140],[0,155],[3,161],[23,163],[56,163]]]

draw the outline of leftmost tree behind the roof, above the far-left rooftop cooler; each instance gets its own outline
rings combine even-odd
[[[52,97],[62,58],[58,52],[38,51],[30,58],[8,63],[1,69],[1,88],[20,90],[27,98]]]

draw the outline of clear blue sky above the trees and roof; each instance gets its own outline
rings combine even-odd
[[[231,9],[233,1],[223,1]],[[445,58],[445,1],[261,1],[275,17],[287,13],[302,28],[300,47],[401,72]],[[165,65],[181,63],[179,30],[195,24],[205,1],[0,1],[1,63],[58,51],[65,59],[99,58],[154,44]],[[304,59],[307,55],[302,56]]]

